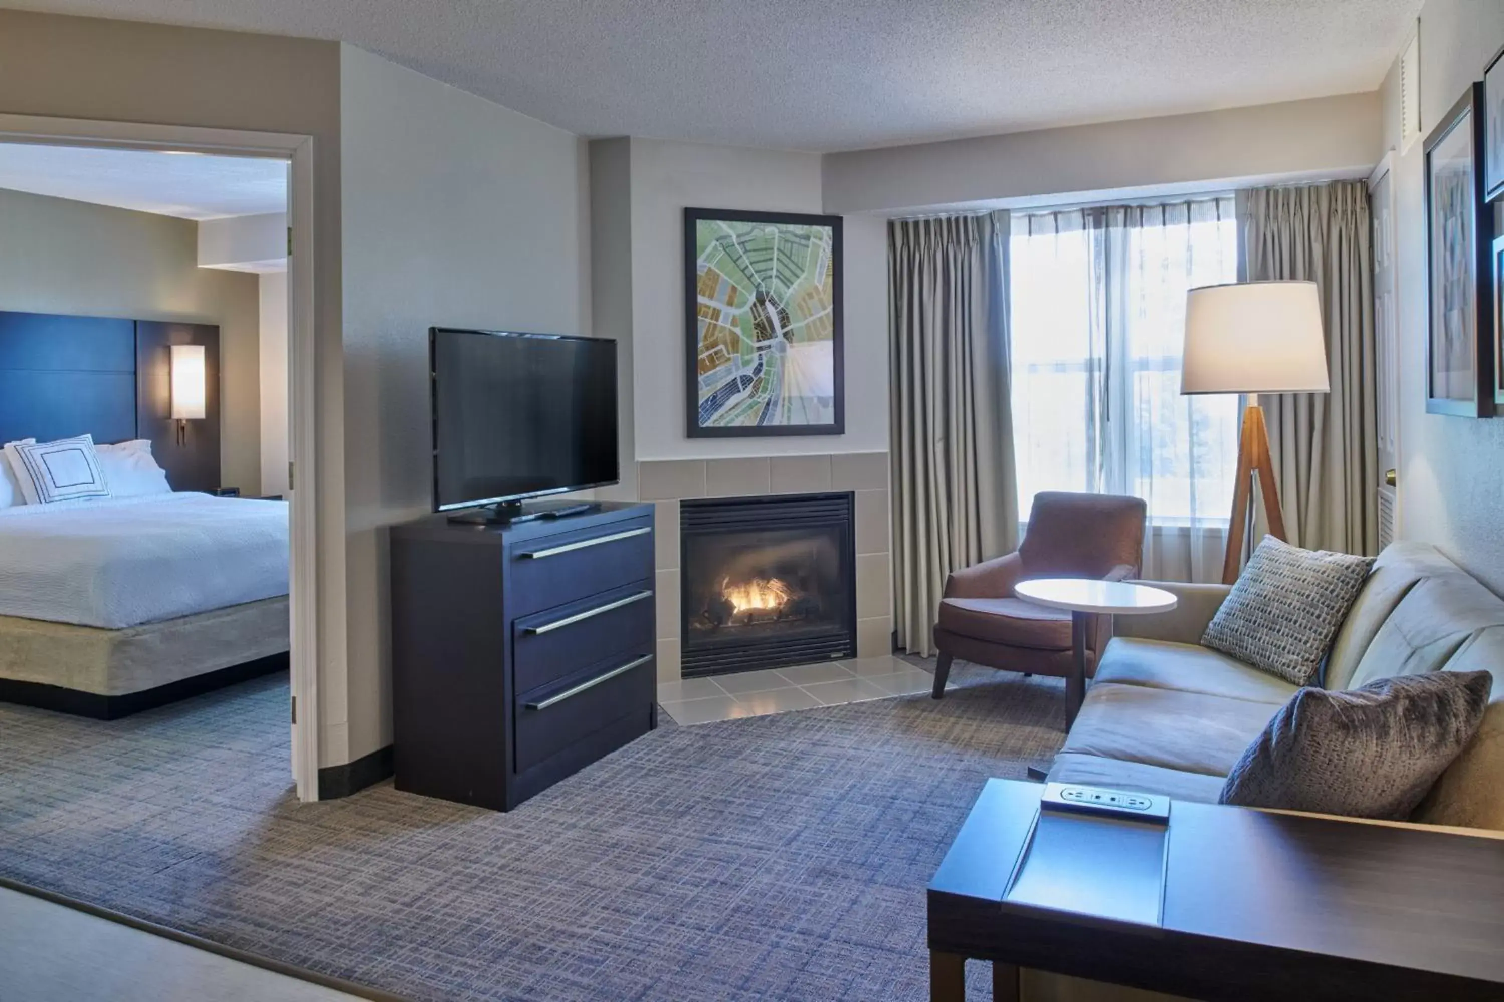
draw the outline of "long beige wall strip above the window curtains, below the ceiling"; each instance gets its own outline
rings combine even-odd
[[[826,212],[902,212],[1039,195],[1361,176],[1379,159],[1376,93],[832,153]],[[1069,195],[1069,197],[1060,197]]]

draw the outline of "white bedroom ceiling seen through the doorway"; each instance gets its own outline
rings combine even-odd
[[[0,143],[0,188],[182,219],[287,207],[286,161]]]

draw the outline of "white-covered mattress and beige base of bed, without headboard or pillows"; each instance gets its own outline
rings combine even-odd
[[[0,509],[0,699],[114,718],[286,667],[287,505]]]

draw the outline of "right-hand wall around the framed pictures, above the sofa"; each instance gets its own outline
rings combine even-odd
[[[1504,47],[1504,3],[1429,0],[1420,15],[1421,135]],[[1385,135],[1399,137],[1397,71],[1384,87]],[[1426,413],[1424,141],[1396,152],[1400,335],[1400,536],[1423,539],[1504,593],[1504,418]],[[1504,212],[1495,212],[1504,216]],[[1499,218],[1504,224],[1504,218]]]

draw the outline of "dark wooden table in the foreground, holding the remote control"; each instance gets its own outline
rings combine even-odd
[[[1009,900],[1044,790],[988,780],[935,871],[932,1002],[966,997],[969,958],[1009,1000],[1021,967],[1206,1002],[1504,999],[1504,838],[1173,801],[1158,916],[1122,921]],[[1083,867],[1145,828],[1095,829]]]

